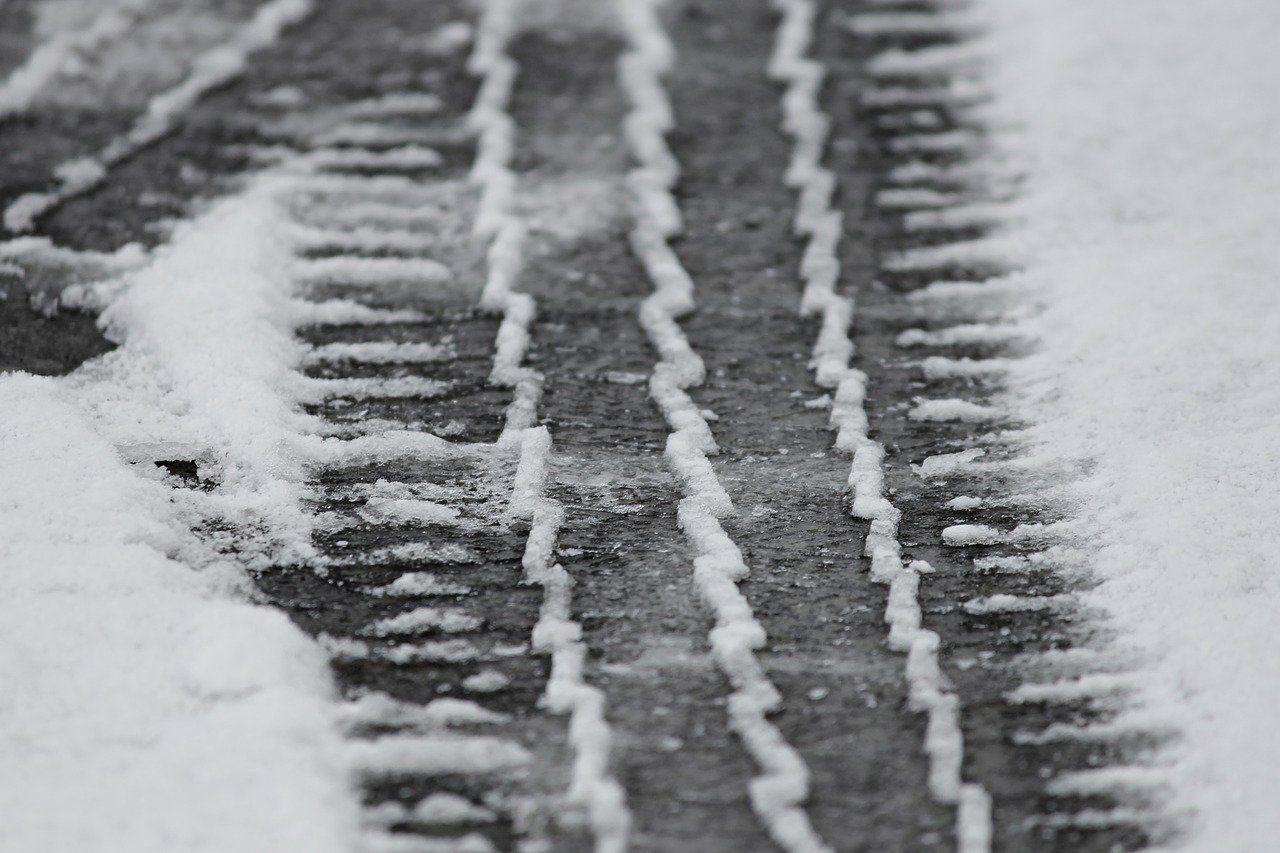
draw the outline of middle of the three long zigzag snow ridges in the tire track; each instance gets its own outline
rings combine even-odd
[[[694,284],[667,243],[681,228],[680,209],[671,193],[680,167],[664,136],[673,119],[662,74],[673,63],[673,49],[658,17],[659,3],[621,0],[616,6],[628,41],[618,61],[618,77],[631,106],[625,134],[637,163],[627,175],[635,218],[631,247],[654,286],[640,309],[640,324],[659,355],[649,394],[672,429],[666,455],[685,487],[678,519],[698,555],[694,580],[716,615],[712,651],[733,686],[730,725],[762,771],[749,784],[751,807],[783,849],[826,852],[831,848],[803,808],[809,795],[809,768],[768,720],[781,697],[755,657],[767,638],[736,585],[748,574],[746,564],[719,523],[733,506],[707,460],[717,450],[716,441],[685,391],[701,383],[704,368],[676,321],[694,306]]]

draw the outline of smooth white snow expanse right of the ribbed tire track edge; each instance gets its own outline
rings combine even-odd
[[[1187,849],[1280,836],[1280,5],[978,0],[1025,161],[1012,233],[1044,286],[1014,374],[1083,484],[1102,585],[1152,651],[1147,716]]]

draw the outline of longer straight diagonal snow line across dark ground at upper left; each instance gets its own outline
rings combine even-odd
[[[155,95],[127,133],[111,140],[93,156],[59,165],[54,172],[59,181],[54,190],[29,192],[10,202],[4,211],[5,228],[31,231],[37,218],[101,184],[113,167],[173,131],[183,113],[201,97],[238,77],[250,54],[275,42],[285,27],[298,23],[312,9],[314,0],[270,0],[260,6],[230,41],[197,56],[186,79]]]

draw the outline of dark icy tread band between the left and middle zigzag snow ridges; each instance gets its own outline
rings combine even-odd
[[[686,590],[667,426],[644,387],[653,355],[636,313],[650,287],[627,248],[617,18],[611,4],[575,9],[512,49],[526,68],[512,108],[527,128],[516,154],[530,223],[522,282],[540,307],[531,360],[557,435],[559,556],[589,680],[608,695],[632,849],[758,849],[768,841],[748,802],[751,762],[724,726],[707,613]]]

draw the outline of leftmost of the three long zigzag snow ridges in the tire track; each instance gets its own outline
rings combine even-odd
[[[479,133],[471,179],[480,186],[474,231],[489,241],[481,307],[502,313],[490,382],[515,391],[507,407],[499,446],[520,447],[509,514],[531,523],[525,543],[526,580],[543,588],[543,605],[532,643],[552,656],[547,681],[547,707],[570,715],[573,770],[568,802],[585,808],[596,853],[623,853],[631,835],[626,792],[609,771],[613,733],[605,719],[604,693],[582,676],[586,646],[582,628],[571,616],[573,579],[554,561],[563,507],[545,496],[552,437],[535,426],[543,377],[522,365],[529,348],[529,328],[536,304],[515,289],[524,265],[525,224],[512,211],[516,175],[509,163],[515,149],[515,122],[507,113],[518,67],[507,54],[517,26],[515,0],[485,0],[467,67],[481,78],[467,120]]]

